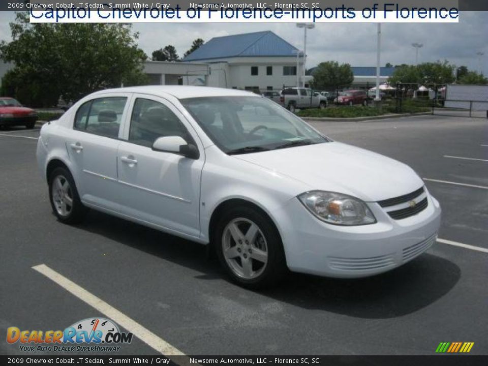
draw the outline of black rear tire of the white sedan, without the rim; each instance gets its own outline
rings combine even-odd
[[[66,179],[70,187],[72,205],[71,205],[70,212],[65,216],[61,215],[58,212],[58,209],[56,208],[53,199],[54,179],[56,179],[57,177],[62,177]],[[72,224],[80,223],[83,220],[88,209],[81,203],[80,197],[78,195],[78,190],[76,189],[75,181],[73,179],[73,176],[69,172],[69,170],[64,167],[55,168],[49,175],[48,183],[49,183],[49,202],[51,203],[52,211],[54,212],[54,215],[57,217],[57,219],[63,224],[72,225]]]

